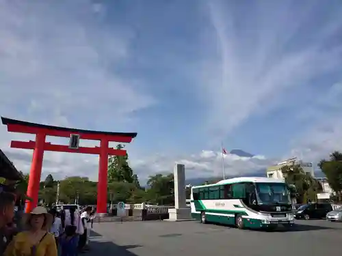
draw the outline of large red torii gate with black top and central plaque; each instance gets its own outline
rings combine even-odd
[[[29,186],[27,196],[33,201],[27,201],[26,212],[31,212],[38,204],[38,191],[40,176],[42,174],[42,162],[44,151],[98,154],[98,184],[97,184],[97,212],[107,213],[107,171],[108,156],[125,156],[126,150],[116,150],[109,147],[109,141],[130,143],[137,136],[136,132],[99,132],[94,130],[79,130],[59,126],[47,126],[16,119],[1,117],[1,121],[7,126],[8,132],[21,132],[36,134],[36,141],[11,141],[11,147],[26,150],[34,150],[31,170],[29,172]],[[45,142],[47,136],[70,137],[69,145],[55,145]],[[100,147],[79,147],[79,139],[101,141]]]

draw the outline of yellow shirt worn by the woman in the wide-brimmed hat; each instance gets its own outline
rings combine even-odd
[[[8,244],[4,256],[30,256],[31,244],[29,233],[18,233]],[[47,233],[43,240],[36,246],[36,256],[57,256],[57,246],[53,234]]]

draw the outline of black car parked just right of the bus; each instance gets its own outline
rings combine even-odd
[[[330,203],[310,203],[304,204],[295,212],[295,218],[326,218],[326,214],[332,211]]]

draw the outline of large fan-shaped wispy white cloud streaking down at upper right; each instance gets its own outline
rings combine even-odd
[[[319,16],[324,11],[312,1],[235,8],[228,1],[207,5],[212,28],[205,41],[208,58],[198,76],[208,102],[208,129],[217,140],[249,117],[285,107],[296,91],[315,89],[313,79],[338,72],[342,65],[341,44],[330,42],[341,31],[341,8],[326,10],[328,16]]]

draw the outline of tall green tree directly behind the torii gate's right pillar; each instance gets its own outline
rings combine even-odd
[[[118,144],[117,150],[122,150],[123,145]],[[137,182],[137,176],[134,177],[131,167],[128,163],[128,154],[125,156],[111,156],[108,163],[108,182]]]

